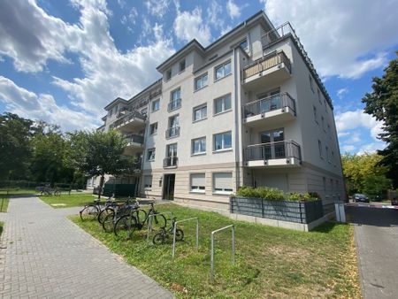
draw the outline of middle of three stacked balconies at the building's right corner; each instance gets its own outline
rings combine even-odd
[[[283,124],[295,119],[295,99],[288,93],[267,96],[242,106],[246,126]]]

